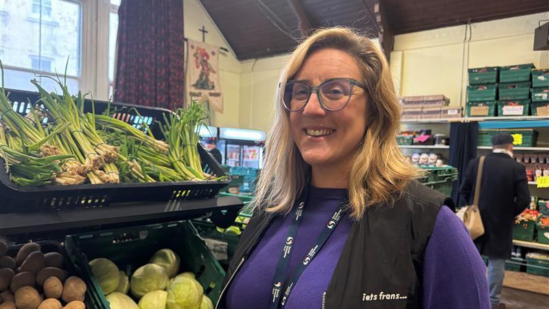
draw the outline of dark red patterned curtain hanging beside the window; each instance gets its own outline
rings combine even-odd
[[[183,1],[122,0],[118,19],[115,101],[183,106]]]

